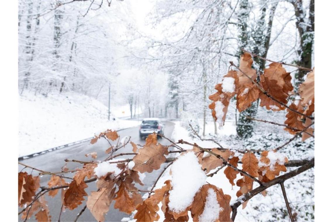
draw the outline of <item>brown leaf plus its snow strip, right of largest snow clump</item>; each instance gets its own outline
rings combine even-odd
[[[193,221],[231,221],[230,199],[215,185],[203,185],[195,194],[191,207]]]

